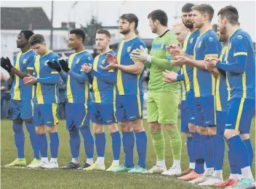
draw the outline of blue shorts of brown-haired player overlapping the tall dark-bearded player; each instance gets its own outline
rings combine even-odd
[[[195,98],[195,124],[200,127],[216,125],[215,96]]]

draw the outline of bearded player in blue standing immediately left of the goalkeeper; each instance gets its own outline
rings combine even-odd
[[[130,59],[134,49],[145,49],[145,43],[137,37],[138,19],[135,14],[123,14],[119,18],[119,30],[124,41],[119,43],[117,57],[107,55],[108,66],[103,70],[116,70],[116,119],[121,126],[125,162],[111,172],[141,173],[145,169],[147,136],[143,127],[143,62]],[[138,163],[134,167],[133,149],[137,145]]]

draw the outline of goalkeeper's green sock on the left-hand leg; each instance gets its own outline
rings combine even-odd
[[[151,137],[153,141],[153,148],[156,152],[157,160],[165,159],[165,141],[162,130],[151,130]]]

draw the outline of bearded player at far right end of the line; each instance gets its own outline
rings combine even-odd
[[[228,155],[231,157],[229,163],[231,166],[236,164],[243,177],[231,188],[255,188],[251,170],[253,148],[249,139],[252,117],[255,115],[255,53],[252,38],[239,28],[239,12],[236,7],[224,7],[217,15],[220,33],[229,36],[228,48],[225,62],[210,59],[206,61],[206,67],[225,72],[227,78],[228,112],[224,135],[228,141]]]

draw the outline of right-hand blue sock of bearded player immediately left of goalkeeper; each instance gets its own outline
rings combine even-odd
[[[141,131],[139,133],[135,133],[136,137],[136,146],[137,146],[137,154],[138,154],[138,162],[137,165],[145,168],[145,156],[147,154],[147,135],[145,131]]]

